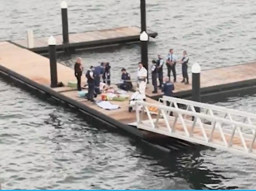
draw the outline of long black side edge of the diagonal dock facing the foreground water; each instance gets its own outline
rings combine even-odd
[[[121,128],[123,130],[125,130],[127,133],[130,133],[132,135],[135,135],[136,138],[142,138],[142,139],[146,139],[144,137],[144,134],[142,133],[142,131],[140,131],[139,129],[136,128],[132,128],[129,125],[123,124],[121,122],[118,122],[116,120],[114,120],[113,118],[110,118],[109,116],[102,114],[94,109],[91,109],[90,107],[79,103],[78,101],[75,101],[73,99],[70,99],[69,97],[66,97],[54,90],[52,90],[49,87],[43,86],[37,82],[34,82],[32,80],[30,80],[29,78],[26,78],[12,70],[7,69],[6,67],[0,65],[0,70],[5,74],[8,75],[10,77],[14,77],[16,78],[17,81],[22,81],[25,82],[27,86],[32,86],[35,87],[36,89],[38,89],[39,91],[43,91],[47,94],[50,94],[53,97],[56,97],[68,104],[71,104],[83,111],[85,111],[86,113],[88,113],[89,115],[93,116],[94,118],[97,118],[100,121],[106,122],[107,124],[110,124],[111,126],[115,126],[117,128]]]

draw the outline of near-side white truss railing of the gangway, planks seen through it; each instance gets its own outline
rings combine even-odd
[[[173,103],[174,107],[170,107],[161,103],[136,101],[137,128],[256,159],[255,125],[234,121],[230,114],[228,118],[221,118],[213,115],[212,112],[209,114],[196,112],[194,105],[190,105],[190,111],[179,108],[175,101]],[[156,118],[152,117],[156,113],[151,113],[149,107],[155,107],[158,110]],[[146,112],[148,120],[142,118],[142,111]],[[169,116],[169,111],[173,112],[173,116]],[[194,118],[187,119],[186,115]],[[212,123],[204,124],[202,118]],[[226,129],[221,124],[227,124],[231,129]],[[242,132],[242,129],[251,131]]]

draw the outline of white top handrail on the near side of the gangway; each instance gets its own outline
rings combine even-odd
[[[158,109],[163,109],[164,111],[177,112],[177,113],[185,114],[188,116],[194,116],[194,117],[199,117],[199,118],[201,117],[201,118],[207,119],[209,121],[216,121],[216,122],[220,122],[220,123],[224,123],[224,124],[230,124],[230,125],[235,125],[238,127],[243,127],[246,129],[256,130],[256,126],[254,126],[254,125],[230,120],[227,118],[221,118],[218,116],[211,116],[211,115],[207,115],[204,113],[197,113],[197,112],[195,113],[195,112],[188,111],[185,109],[179,109],[179,108],[169,107],[169,106],[165,106],[165,105],[151,104],[151,103],[147,103],[144,101],[136,101],[136,109],[139,108],[138,107],[139,105],[147,106],[147,107],[156,107]],[[137,115],[137,120],[138,120],[139,119],[139,117],[138,117],[139,111],[136,111],[136,115]],[[139,121],[137,121],[137,123],[139,123]]]

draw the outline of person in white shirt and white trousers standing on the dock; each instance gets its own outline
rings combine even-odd
[[[142,63],[138,63],[138,85],[139,85],[139,92],[141,94],[142,99],[145,101],[146,100],[146,84],[147,84],[147,70],[146,68],[143,67]]]

